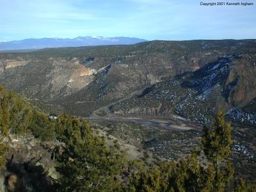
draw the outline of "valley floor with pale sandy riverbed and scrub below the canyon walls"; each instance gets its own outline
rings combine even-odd
[[[127,148],[131,159],[142,159],[148,163],[159,158],[179,160],[188,157],[193,148],[198,148],[202,125],[193,124],[180,116],[170,115],[120,115],[111,113],[106,106],[87,118],[103,132],[117,138]],[[236,175],[246,175],[255,180],[256,137],[252,127],[242,128],[232,124],[232,161]],[[200,161],[205,164],[205,156]]]

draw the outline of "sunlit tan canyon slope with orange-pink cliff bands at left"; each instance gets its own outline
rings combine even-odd
[[[0,81],[7,88],[12,88],[29,98],[49,101],[65,97],[93,81],[93,71],[76,60],[17,60],[2,60]]]

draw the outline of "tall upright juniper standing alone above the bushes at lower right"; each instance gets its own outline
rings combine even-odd
[[[219,112],[214,125],[205,126],[202,134],[202,149],[214,166],[214,189],[217,191],[225,191],[233,178],[234,169],[228,159],[231,143],[230,123],[225,123],[224,113]]]

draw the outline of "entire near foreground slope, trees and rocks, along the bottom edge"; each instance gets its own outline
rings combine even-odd
[[[141,158],[143,161],[128,161],[124,150],[120,150],[118,140],[106,145],[105,136],[100,136],[99,130],[93,132],[88,122],[67,115],[47,116],[0,86],[0,189],[215,191],[217,187],[219,191],[224,191],[234,178],[234,168],[229,158],[230,124],[225,124],[223,117],[223,113],[218,113],[221,121],[218,122],[216,118],[215,126],[211,125],[209,129],[218,136],[221,136],[218,129],[225,131],[225,137],[219,141],[222,147],[219,150],[204,144],[207,140],[214,140],[207,139],[207,131],[204,129],[202,148],[194,148],[196,150],[186,160],[175,162],[156,158],[156,161],[150,163],[149,155],[145,152],[145,157]],[[230,139],[225,143],[223,141],[226,137]],[[108,136],[108,140],[113,138]],[[204,163],[207,164],[198,161],[200,150],[204,150]],[[219,154],[221,150],[225,150],[219,160],[223,164],[220,168],[215,168],[215,171],[215,162],[210,159],[212,155],[208,155],[207,150],[211,154]],[[232,150],[236,151],[236,148]],[[166,174],[170,176],[165,177]],[[238,172],[239,174],[243,172]],[[218,182],[212,178],[216,178]],[[236,179],[231,188],[234,191],[240,191],[240,188],[250,191],[255,189],[255,185]]]

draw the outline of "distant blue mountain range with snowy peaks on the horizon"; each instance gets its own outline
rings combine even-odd
[[[131,45],[147,42],[141,38],[130,38],[124,36],[78,36],[77,38],[27,38],[11,42],[0,42],[0,51],[21,49],[43,49],[49,47],[79,47],[93,45]]]

